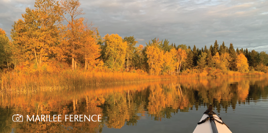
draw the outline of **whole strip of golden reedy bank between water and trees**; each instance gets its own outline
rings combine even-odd
[[[23,74],[6,72],[0,73],[1,94],[35,93],[40,91],[57,91],[62,89],[75,89],[82,86],[100,86],[126,83],[141,83],[156,80],[173,80],[188,78],[217,78],[217,77],[247,77],[264,76],[267,73],[250,71],[239,73],[234,71],[221,71],[218,69],[186,70],[179,75],[148,75],[136,72],[89,72],[82,70],[62,71],[58,73]]]

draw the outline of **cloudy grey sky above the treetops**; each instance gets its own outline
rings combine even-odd
[[[0,28],[12,25],[35,0],[0,0]],[[134,36],[139,44],[167,39],[170,44],[209,47],[233,43],[268,53],[268,0],[80,0],[100,35]],[[139,45],[137,44],[137,45]]]

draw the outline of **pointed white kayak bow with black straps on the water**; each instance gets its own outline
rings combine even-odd
[[[209,109],[206,110],[193,133],[232,133],[227,125],[225,125],[225,123],[223,123],[222,120],[214,112],[208,113],[208,111],[213,112]]]

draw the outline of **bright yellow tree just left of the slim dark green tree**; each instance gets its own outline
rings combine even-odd
[[[123,42],[118,34],[107,34],[104,37],[105,42],[105,63],[113,70],[123,68],[126,57],[127,43]]]

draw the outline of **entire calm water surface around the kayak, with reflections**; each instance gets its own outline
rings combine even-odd
[[[0,133],[192,133],[209,104],[233,133],[268,132],[268,77],[250,77],[1,95]],[[15,114],[23,122],[14,122]],[[102,117],[100,122],[29,122],[27,115]]]

